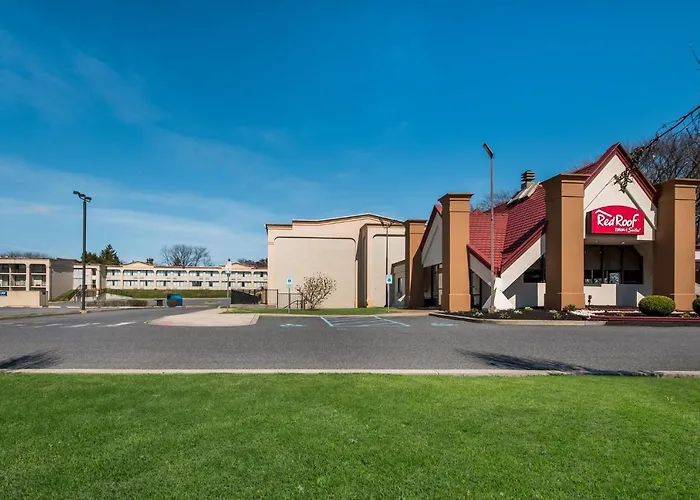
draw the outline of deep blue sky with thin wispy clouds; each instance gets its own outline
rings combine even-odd
[[[0,0],[0,251],[266,255],[266,222],[427,218],[700,99],[698,2]]]

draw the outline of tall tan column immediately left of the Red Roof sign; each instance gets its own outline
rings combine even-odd
[[[543,183],[547,204],[544,306],[586,306],[583,293],[583,192],[587,175],[560,174]]]

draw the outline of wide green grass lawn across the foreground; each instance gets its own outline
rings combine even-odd
[[[1,375],[2,498],[698,498],[700,380]]]

